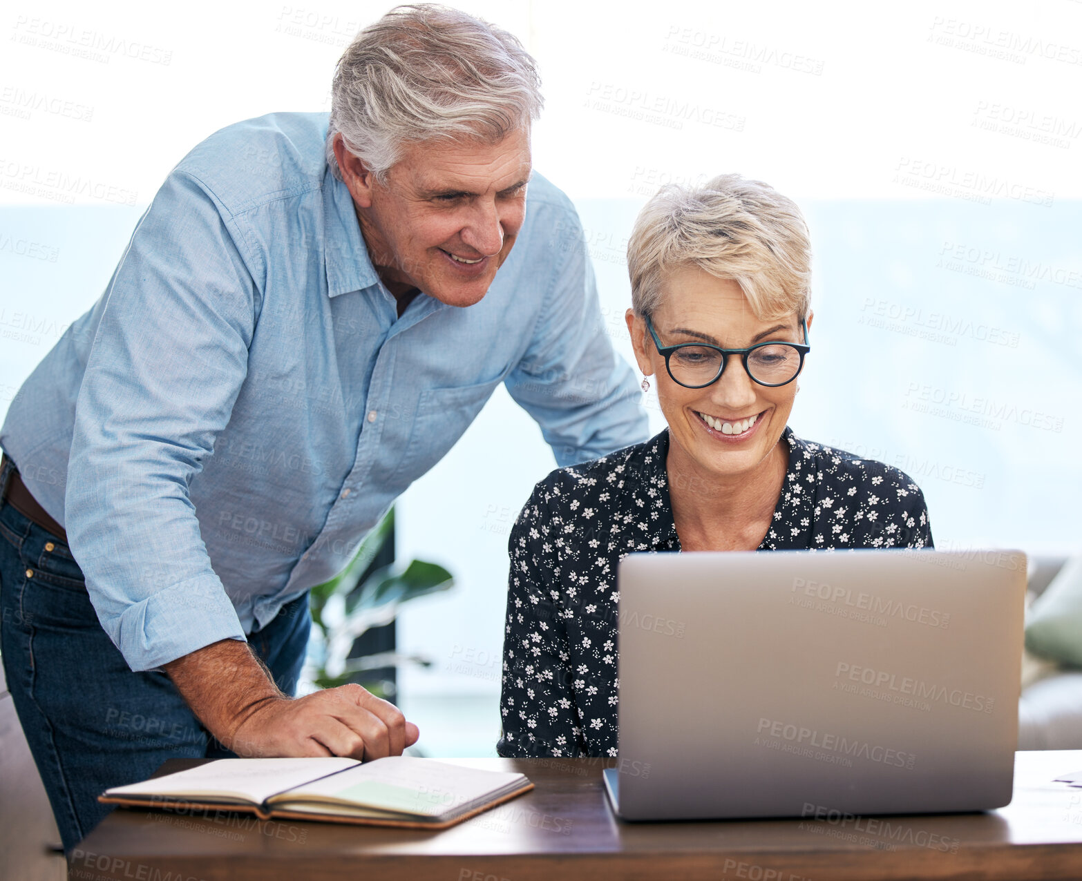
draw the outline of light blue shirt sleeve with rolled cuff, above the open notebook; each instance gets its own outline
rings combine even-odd
[[[132,670],[245,639],[188,485],[245,381],[262,264],[196,177],[170,174],[107,291],[76,403],[65,526]]]

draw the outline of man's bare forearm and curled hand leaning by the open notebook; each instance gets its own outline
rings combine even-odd
[[[290,698],[247,643],[226,639],[164,666],[211,734],[238,756],[400,756],[418,729],[360,685]]]

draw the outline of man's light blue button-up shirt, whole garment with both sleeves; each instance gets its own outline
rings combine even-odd
[[[272,114],[193,149],[0,429],[133,670],[335,575],[500,383],[560,466],[647,437],[564,193],[533,176],[484,299],[399,317],[326,132]]]

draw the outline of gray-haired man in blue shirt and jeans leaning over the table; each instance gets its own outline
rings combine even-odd
[[[289,696],[307,589],[499,383],[560,465],[646,437],[575,211],[531,176],[519,43],[399,8],[346,50],[331,106],[188,153],[0,431],[3,664],[67,849],[103,788],[214,740],[417,739],[359,686]]]

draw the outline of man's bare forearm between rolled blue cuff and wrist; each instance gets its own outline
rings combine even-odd
[[[164,665],[181,696],[226,748],[245,721],[286,697],[247,642],[223,639]]]

